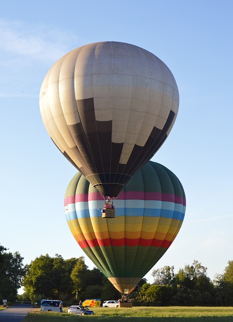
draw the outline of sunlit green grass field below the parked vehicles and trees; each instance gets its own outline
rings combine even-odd
[[[233,322],[233,307],[96,307],[93,310],[94,315],[81,316],[36,309],[24,322],[72,322],[77,319],[90,319],[90,322]]]

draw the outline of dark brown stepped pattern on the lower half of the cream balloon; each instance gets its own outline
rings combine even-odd
[[[119,161],[123,143],[112,143],[112,121],[96,121],[93,98],[77,100],[76,104],[81,123],[68,125],[68,128],[77,146],[72,152],[82,164],[79,170],[104,196],[117,196],[163,144],[175,113],[170,112],[162,130],[153,128],[143,147],[135,145],[128,163],[122,165]],[[69,156],[63,154],[74,165]]]

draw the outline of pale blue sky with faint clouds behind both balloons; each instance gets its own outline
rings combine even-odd
[[[122,41],[161,58],[180,93],[175,125],[152,160],[178,176],[187,210],[154,268],[177,272],[195,259],[211,279],[223,273],[233,260],[232,11],[230,0],[0,1],[0,244],[24,264],[41,254],[85,256],[63,208],[76,170],[44,128],[39,91],[63,54]],[[151,271],[145,277],[152,282]]]

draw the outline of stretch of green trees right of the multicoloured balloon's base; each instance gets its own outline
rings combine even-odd
[[[224,273],[207,276],[207,268],[194,260],[174,273],[174,266],[165,266],[152,272],[154,283],[145,283],[135,294],[135,303],[146,306],[232,306],[233,261]]]

